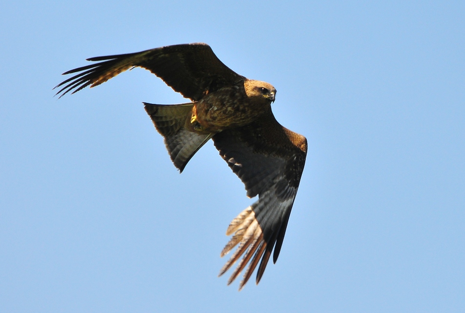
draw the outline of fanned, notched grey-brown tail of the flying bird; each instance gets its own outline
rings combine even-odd
[[[165,145],[174,166],[182,173],[190,158],[214,135],[198,134],[186,128],[193,103],[163,105],[145,103],[145,110],[157,131],[165,138]]]

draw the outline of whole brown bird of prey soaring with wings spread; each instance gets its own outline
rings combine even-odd
[[[62,87],[57,95],[94,87],[127,69],[142,67],[191,100],[144,105],[180,172],[212,139],[220,156],[244,183],[247,196],[258,195],[226,231],[232,238],[221,256],[236,245],[238,248],[219,274],[243,255],[228,281],[230,284],[249,264],[239,284],[241,290],[261,259],[258,284],[273,248],[273,262],[278,258],[307,155],[307,139],[281,126],[272,113],[275,87],[233,72],[205,43],[87,60],[98,62],[63,73],[78,74],[56,86]]]

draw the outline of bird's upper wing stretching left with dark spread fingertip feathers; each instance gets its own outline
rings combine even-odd
[[[96,57],[88,61],[103,61],[67,71],[63,75],[81,72],[66,79],[60,97],[73,94],[86,86],[94,87],[133,67],[142,67],[162,78],[174,91],[198,101],[208,92],[232,85],[244,77],[223,64],[205,43],[179,44],[142,52]]]

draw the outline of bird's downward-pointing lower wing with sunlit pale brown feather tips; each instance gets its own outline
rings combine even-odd
[[[232,220],[226,235],[234,235],[221,252],[224,256],[239,244],[220,275],[244,254],[228,284],[252,259],[240,282],[240,290],[261,258],[256,277],[258,284],[273,247],[273,262],[278,258],[305,165],[307,139],[281,126],[270,110],[247,126],[214,135],[213,141],[244,183],[247,196],[258,195],[258,201]]]

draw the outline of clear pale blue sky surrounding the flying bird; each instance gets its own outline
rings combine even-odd
[[[86,58],[199,41],[308,139],[241,292],[219,253],[254,200],[211,142],[179,175],[142,105],[185,99],[141,69],[53,97]],[[465,311],[464,1],[2,1],[0,64],[0,312]]]

